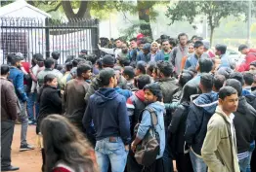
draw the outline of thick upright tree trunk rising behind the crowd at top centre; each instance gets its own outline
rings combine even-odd
[[[140,25],[140,29],[143,31],[143,33],[146,36],[148,36],[149,38],[152,38],[152,30],[151,30],[150,18],[149,18],[149,10],[150,10],[151,7],[147,6],[146,3],[144,1],[138,1],[137,2],[139,19],[142,22],[147,22],[147,23],[142,23]]]

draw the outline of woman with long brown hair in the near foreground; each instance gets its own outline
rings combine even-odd
[[[46,172],[98,172],[93,148],[67,119],[48,116],[41,123],[41,131]]]

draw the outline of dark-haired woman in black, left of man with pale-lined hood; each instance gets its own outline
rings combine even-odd
[[[192,170],[192,162],[188,148],[185,148],[186,120],[189,114],[191,96],[197,94],[197,87],[188,83],[183,88],[183,95],[180,105],[173,114],[172,121],[168,127],[172,155],[176,159],[176,166],[179,172]],[[186,164],[186,165],[185,165]]]

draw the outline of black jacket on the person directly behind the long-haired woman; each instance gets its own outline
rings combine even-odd
[[[60,91],[52,86],[42,87],[38,96],[38,102],[40,104],[40,110],[36,125],[37,132],[39,131],[42,120],[52,114],[61,115],[63,109]]]

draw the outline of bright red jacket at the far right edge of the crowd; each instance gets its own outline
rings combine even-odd
[[[256,61],[256,49],[250,49],[245,56],[245,61],[238,67],[238,72],[244,72],[250,70],[250,63]]]

